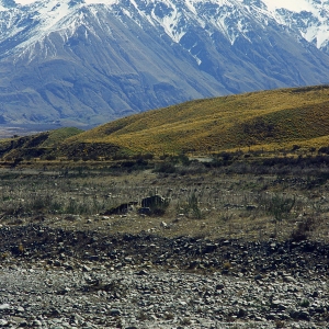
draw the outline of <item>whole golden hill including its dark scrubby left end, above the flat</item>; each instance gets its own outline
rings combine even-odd
[[[280,89],[148,111],[88,132],[61,128],[0,143],[0,156],[118,159],[224,151],[313,155],[329,144],[329,86]],[[275,156],[275,157],[276,157]]]

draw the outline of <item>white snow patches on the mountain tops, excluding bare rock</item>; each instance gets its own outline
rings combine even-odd
[[[22,43],[20,47],[26,46],[29,42],[35,43],[41,41],[44,35],[47,35],[54,31],[63,31],[67,29],[70,19],[75,20],[75,9],[88,7],[93,15],[98,19],[98,11],[101,9],[93,4],[105,4],[109,10],[114,4],[120,4],[122,0],[84,0],[84,3],[78,4],[77,7],[70,7],[69,0],[15,0],[19,4],[15,10],[24,10],[33,13],[30,19],[34,22],[38,22],[37,29],[33,30],[30,34],[29,41]],[[152,11],[151,13],[145,12],[139,5],[138,1],[129,0],[129,3],[134,7],[134,10],[126,10],[124,5],[121,9],[132,20],[134,20],[140,27],[146,22],[154,26],[162,26],[166,34],[174,42],[179,43],[188,30],[189,22],[198,24],[208,34],[214,29],[222,31],[222,33],[230,41],[235,43],[238,35],[243,35],[246,38],[250,30],[249,24],[245,23],[245,16],[253,16],[254,22],[259,26],[266,29],[268,22],[275,20],[282,25],[293,27],[300,32],[300,35],[308,42],[315,44],[318,48],[328,44],[329,41],[329,23],[328,14],[329,11],[328,1],[314,1],[314,0],[261,0],[262,3],[259,5],[256,2],[247,4],[246,0],[145,0],[148,4],[157,4],[162,2],[171,11],[164,16],[158,16]],[[29,8],[22,8],[21,5],[29,4]],[[202,11],[205,4],[212,8],[212,12]],[[268,10],[265,10],[265,7]],[[217,8],[217,10],[216,10]],[[286,9],[282,12],[279,9]],[[236,11],[232,11],[236,10]],[[304,14],[303,11],[310,13],[313,20],[309,22],[298,22],[295,18],[296,14],[300,13],[300,18]],[[7,14],[12,10],[4,8],[0,4],[0,13]],[[80,18],[81,22],[82,18]],[[66,23],[65,23],[66,22]],[[65,23],[65,24],[64,24]],[[78,24],[79,22],[76,22]],[[4,39],[10,36],[14,36],[22,31],[23,27],[10,26],[8,27],[10,20],[2,22],[4,30],[0,39]],[[212,26],[211,26],[212,25]],[[211,27],[209,27],[211,26]],[[77,26],[75,26],[77,27]],[[73,29],[73,27],[70,27]],[[252,29],[252,27],[251,27]],[[90,30],[92,33],[92,29]]]

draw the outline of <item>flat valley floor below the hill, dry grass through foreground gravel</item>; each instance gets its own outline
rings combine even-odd
[[[280,170],[1,169],[0,327],[328,328],[326,168]]]

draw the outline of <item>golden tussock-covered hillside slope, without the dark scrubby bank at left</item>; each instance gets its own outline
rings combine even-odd
[[[329,141],[329,86],[197,100],[124,117],[65,141],[132,152],[265,150]]]

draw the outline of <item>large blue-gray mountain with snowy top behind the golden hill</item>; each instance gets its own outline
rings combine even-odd
[[[0,0],[0,124],[329,80],[328,0],[24,2]]]

